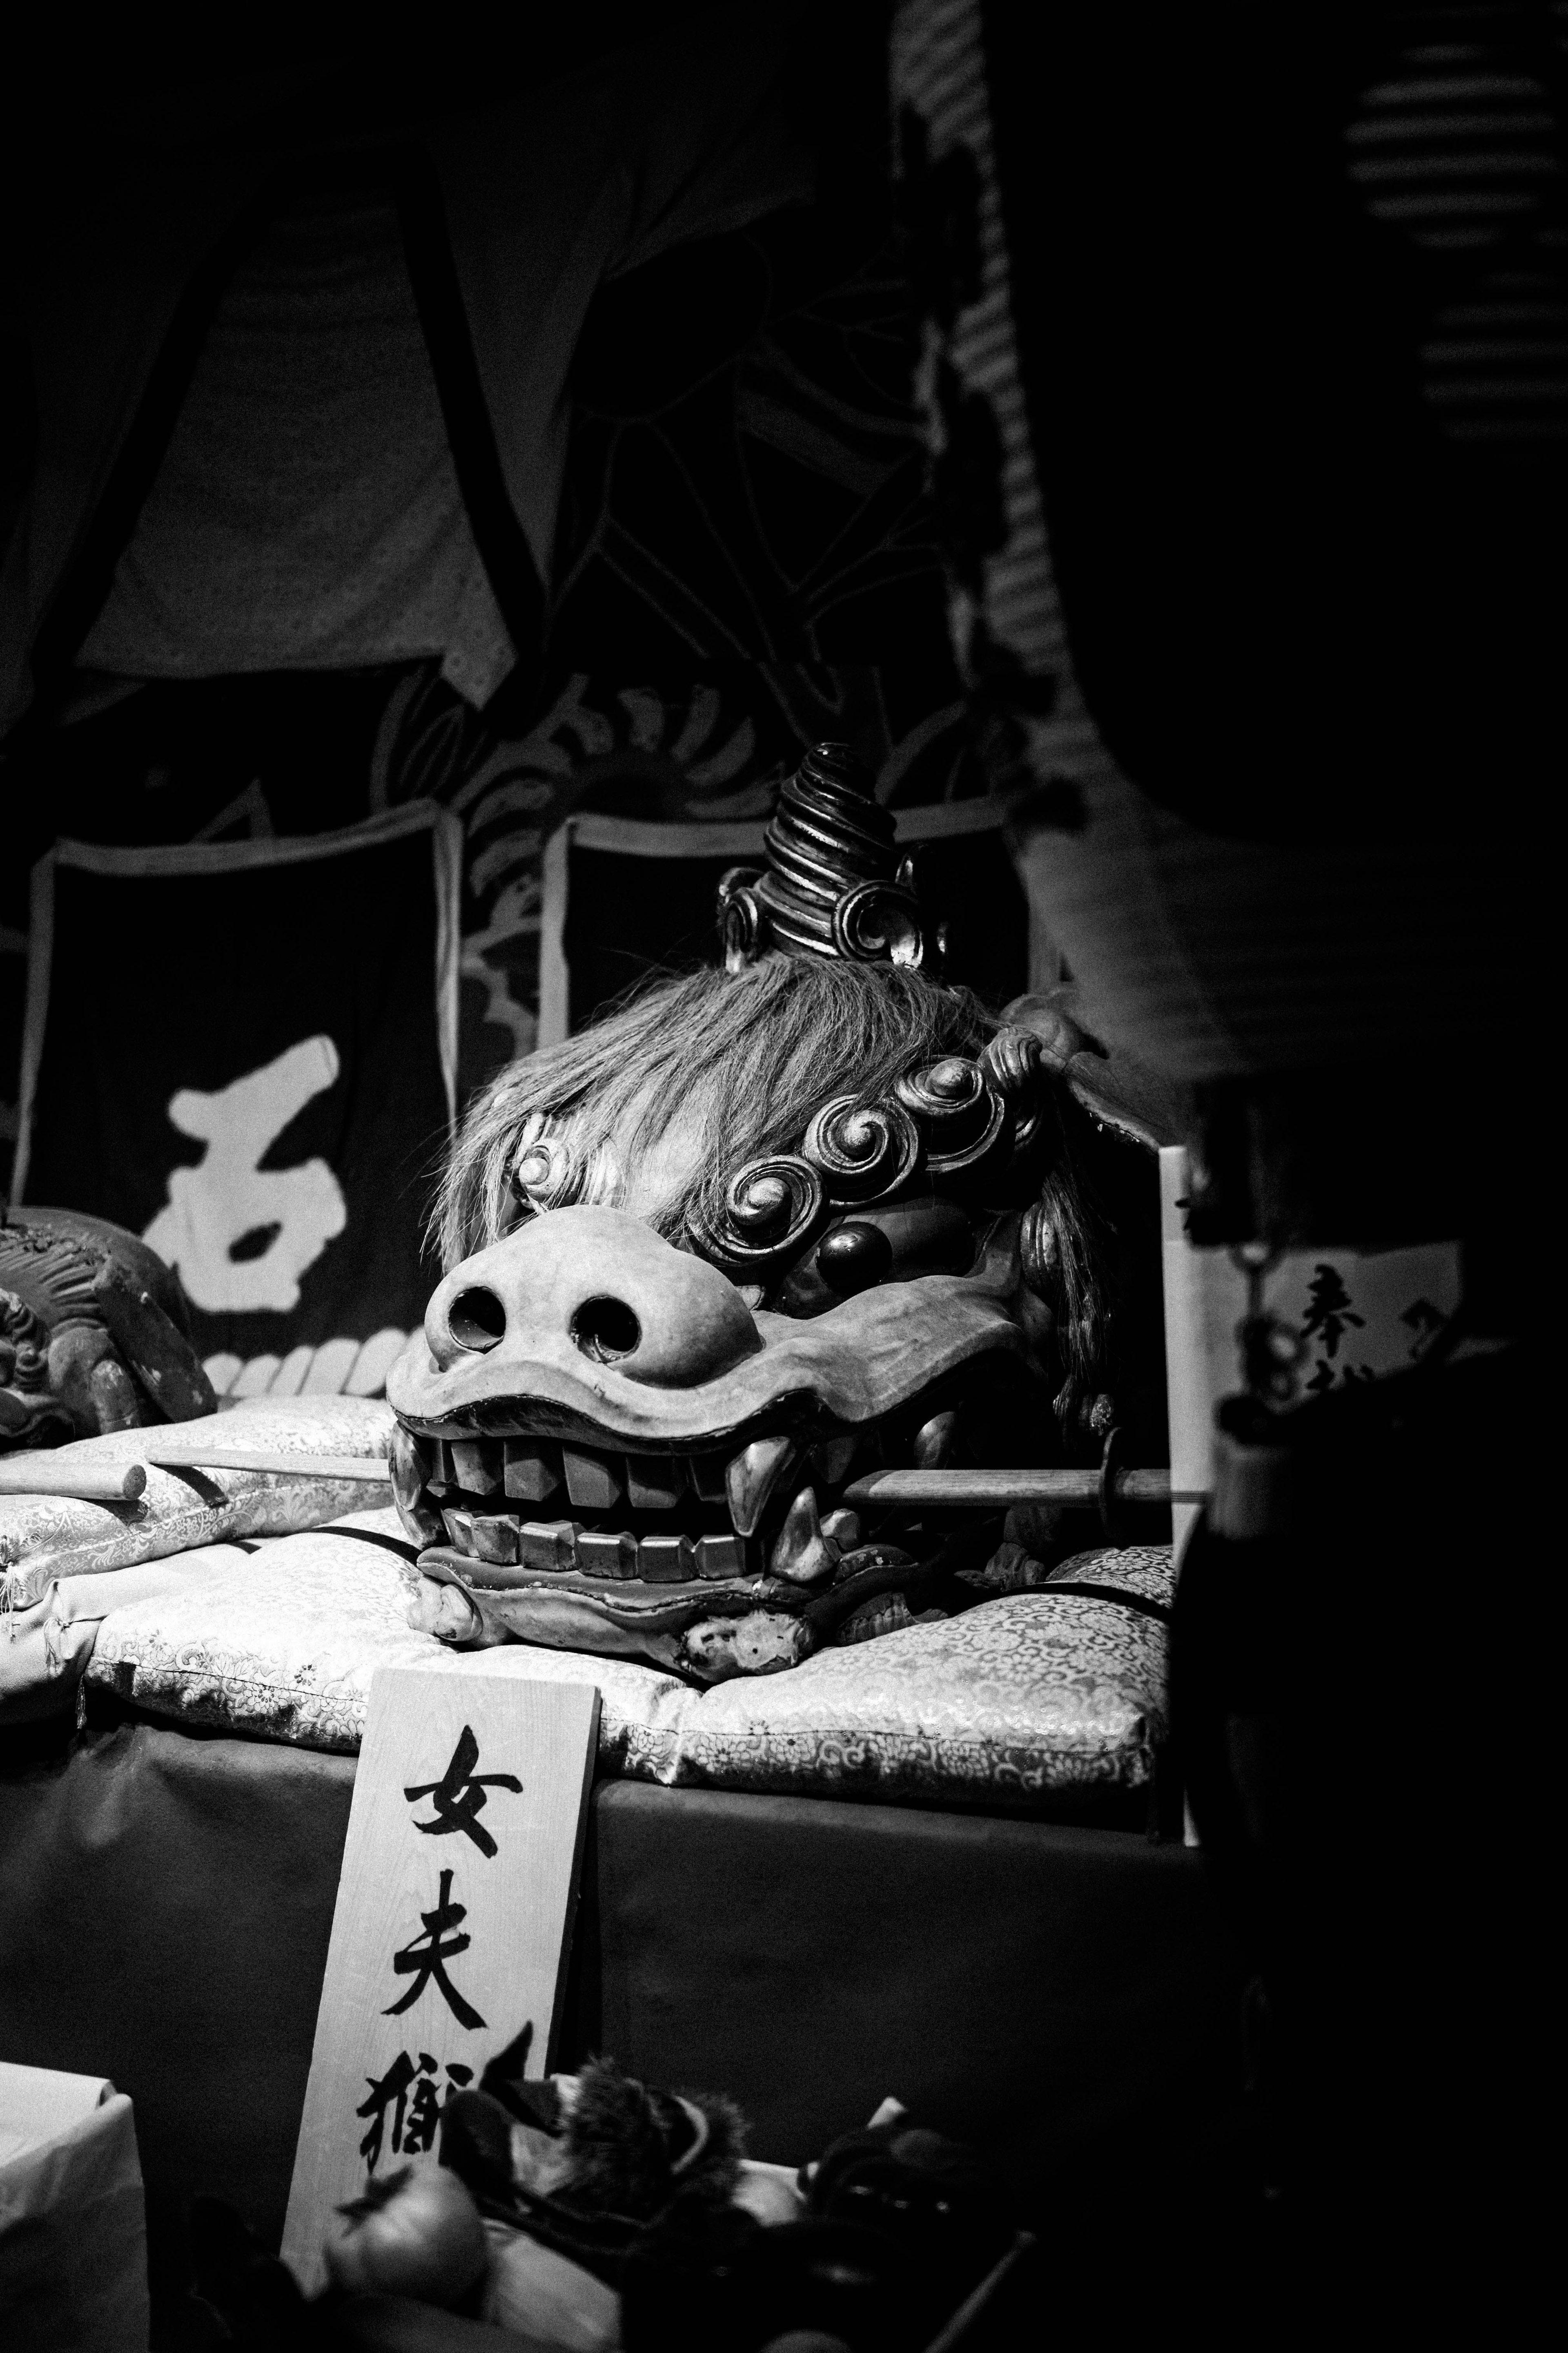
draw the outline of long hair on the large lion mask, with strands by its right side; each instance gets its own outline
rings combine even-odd
[[[896,965],[769,955],[736,974],[656,974],[484,1087],[447,1160],[433,1240],[447,1268],[498,1242],[517,1221],[517,1153],[545,1132],[581,1172],[574,1200],[616,1207],[628,1172],[679,1113],[701,1134],[698,1165],[649,1224],[686,1247],[691,1209],[745,1162],[797,1151],[830,1096],[886,1094],[922,1064],[980,1054],[997,1028],[966,988]],[[1058,1106],[1067,1148],[1041,1200],[1056,1233],[1063,1369],[1086,1388],[1105,1353],[1107,1235],[1079,1181],[1086,1115],[1065,1087]]]

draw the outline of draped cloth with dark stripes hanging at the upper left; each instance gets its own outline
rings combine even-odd
[[[404,122],[127,148],[31,254],[38,440],[0,722],[136,678],[442,654],[484,701],[543,624],[567,379],[618,271],[809,193],[802,9],[715,9]]]

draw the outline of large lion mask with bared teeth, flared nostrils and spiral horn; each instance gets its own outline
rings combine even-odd
[[[985,1598],[992,1525],[842,1506],[884,1466],[1095,1459],[1112,1419],[1081,1033],[940,981],[842,746],[719,885],[724,969],[515,1064],[393,1367],[414,1621],[698,1682]],[[954,1579],[969,1584],[954,1584]],[[994,1586],[992,1586],[994,1591]]]

